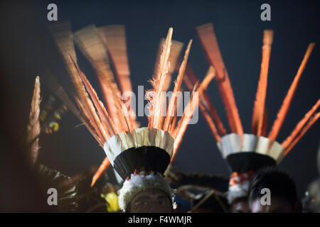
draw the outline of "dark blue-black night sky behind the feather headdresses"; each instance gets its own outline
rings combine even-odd
[[[68,72],[48,31],[50,24],[57,23],[47,20],[50,3],[58,6],[58,22],[70,21],[73,31],[92,23],[96,26],[122,24],[126,27],[134,92],[137,92],[138,85],[150,88],[147,80],[154,72],[159,41],[166,36],[169,27],[174,28],[173,39],[183,42],[184,48],[188,40],[193,39],[188,63],[203,79],[208,63],[196,26],[213,23],[246,133],[251,132],[264,29],[274,30],[266,100],[268,131],[311,42],[316,46],[277,137],[279,142],[289,135],[319,99],[319,1],[2,1],[1,99],[7,104],[2,105],[1,111],[2,150],[9,149],[5,148],[5,142],[19,145],[23,141],[36,75],[41,79],[42,106],[52,94],[46,85],[49,74],[54,75],[65,89],[68,90],[70,85]],[[260,20],[260,6],[264,3],[271,6],[272,21]],[[78,50],[77,54],[81,69],[97,88],[90,63]],[[230,132],[214,81],[208,87],[208,94]],[[138,121],[146,126],[146,117],[138,118]],[[92,165],[100,165],[105,153],[84,126],[75,127],[78,124],[78,118],[68,111],[60,121],[58,133],[42,133],[38,161],[70,176]],[[316,166],[319,138],[318,122],[280,164],[294,178],[300,196],[307,185],[319,177]],[[10,153],[12,155],[14,150]],[[18,156],[13,156],[2,167],[14,167],[19,162]],[[186,172],[230,174],[200,112],[198,123],[188,126],[174,164],[178,170]],[[1,171],[6,172],[4,169]]]

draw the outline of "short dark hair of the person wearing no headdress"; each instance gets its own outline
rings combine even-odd
[[[264,167],[255,172],[249,187],[249,202],[259,199],[261,190],[270,189],[271,195],[284,201],[288,201],[292,206],[297,202],[297,191],[293,179],[278,167]]]

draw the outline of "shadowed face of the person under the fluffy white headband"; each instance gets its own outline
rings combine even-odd
[[[129,204],[132,213],[171,213],[171,200],[159,189],[146,189],[134,196]]]

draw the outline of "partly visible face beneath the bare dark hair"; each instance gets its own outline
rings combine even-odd
[[[270,205],[262,205],[260,198],[251,203],[252,213],[292,213],[294,207],[288,201],[277,197],[271,198]]]

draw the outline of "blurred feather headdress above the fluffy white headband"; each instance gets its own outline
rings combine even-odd
[[[183,133],[186,131],[188,121],[196,109],[198,99],[196,94],[191,97],[188,107],[183,111],[183,116],[177,123],[175,114],[178,106],[177,96],[181,91],[181,83],[186,70],[192,43],[190,41],[179,68],[174,92],[169,99],[169,104],[166,105],[164,92],[168,89],[165,82],[166,76],[170,72],[172,32],[173,30],[170,28],[159,56],[156,74],[151,81],[152,89],[149,91],[151,95],[148,96],[149,124],[144,128],[138,128],[139,124],[136,122],[135,116],[132,116],[132,110],[124,105],[124,101],[127,102],[130,99],[123,100],[121,96],[122,92],[132,91],[127,65],[124,27],[95,28],[95,26],[87,26],[73,35],[64,31],[68,38],[63,35],[55,35],[55,41],[58,43],[75,84],[77,91],[75,100],[82,114],[83,123],[107,154],[92,180],[92,184],[110,163],[122,179],[129,180],[134,172],[154,172],[162,175],[173,159],[176,148],[181,143]],[[106,106],[100,101],[97,92],[78,66],[75,50],[70,48],[73,45],[69,45],[72,43],[69,40],[72,36],[97,74]],[[68,45],[63,43],[68,43]],[[117,79],[114,78],[114,75]],[[214,70],[210,70],[206,79],[200,85],[197,84],[193,90],[201,94],[214,75]],[[139,192],[139,190],[135,189],[134,192]],[[127,197],[120,196],[120,198]],[[122,201],[120,204],[127,204],[127,201]]]

